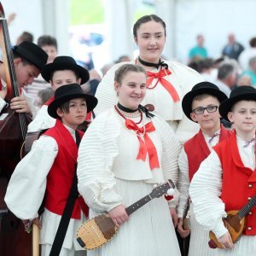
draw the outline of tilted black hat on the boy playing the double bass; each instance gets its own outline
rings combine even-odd
[[[44,49],[32,42],[23,41],[19,45],[15,45],[13,51],[15,54],[20,55],[21,58],[38,67],[39,70],[47,63],[48,54]]]

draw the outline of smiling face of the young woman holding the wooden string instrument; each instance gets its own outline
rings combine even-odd
[[[114,83],[119,96],[119,103],[125,108],[137,109],[146,94],[146,75],[141,72],[128,72],[121,84]]]

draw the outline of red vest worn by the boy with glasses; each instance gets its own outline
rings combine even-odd
[[[231,133],[233,133],[233,131],[226,130],[224,126],[221,125],[219,142],[229,137]],[[191,182],[192,177],[199,169],[201,162],[211,153],[201,130],[184,143],[184,150],[188,156],[189,181]]]

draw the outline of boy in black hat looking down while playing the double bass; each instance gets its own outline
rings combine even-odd
[[[42,67],[46,64],[48,55],[37,44],[24,41],[13,48],[14,67],[17,84],[21,91],[21,96],[11,99],[10,108],[17,113],[32,113],[35,117],[38,108],[34,104],[34,99],[26,94],[23,87],[32,84],[33,79],[38,77]],[[0,111],[6,105],[4,98],[7,94],[5,80],[5,67],[0,63]]]

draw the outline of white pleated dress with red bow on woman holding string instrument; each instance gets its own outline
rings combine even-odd
[[[155,183],[169,178],[177,182],[180,146],[172,129],[157,116],[149,119],[143,113],[136,124],[139,119],[123,119],[112,108],[86,131],[79,147],[78,177],[90,217],[121,204],[129,207],[148,195]],[[169,201],[169,207],[176,204]],[[169,207],[164,196],[150,201],[131,214],[112,241],[87,255],[180,255]]]

